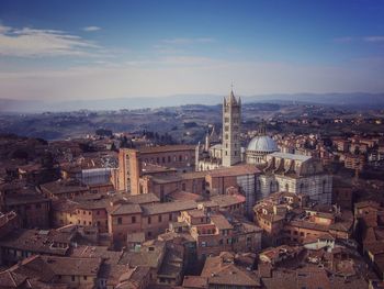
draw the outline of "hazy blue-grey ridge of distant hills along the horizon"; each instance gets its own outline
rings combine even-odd
[[[120,110],[160,107],[179,107],[185,104],[214,105],[222,103],[224,96],[217,95],[176,95],[162,98],[114,98],[98,100],[13,100],[0,99],[1,112],[43,112],[75,110]],[[295,93],[295,95],[260,95],[241,97],[245,103],[314,103],[340,105],[346,109],[383,109],[384,93]]]

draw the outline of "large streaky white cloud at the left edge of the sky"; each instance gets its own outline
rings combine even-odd
[[[99,45],[59,30],[0,25],[0,55],[16,57],[90,56]]]

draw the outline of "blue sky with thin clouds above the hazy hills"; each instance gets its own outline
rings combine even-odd
[[[1,0],[0,98],[384,92],[384,0]]]

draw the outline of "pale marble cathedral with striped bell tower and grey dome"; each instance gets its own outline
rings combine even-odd
[[[306,194],[318,203],[331,202],[332,179],[324,171],[319,159],[298,154],[280,153],[276,142],[261,124],[258,134],[241,146],[241,100],[231,90],[223,100],[223,129],[221,136],[212,129],[205,144],[195,149],[195,170],[213,170],[248,164],[259,168],[251,198],[257,202],[270,193],[287,191]],[[241,189],[241,186],[239,184]],[[247,197],[247,196],[246,196]]]

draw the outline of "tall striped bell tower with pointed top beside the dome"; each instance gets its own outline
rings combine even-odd
[[[240,145],[241,100],[236,100],[234,91],[223,102],[223,155],[222,165],[230,167],[241,162]]]

